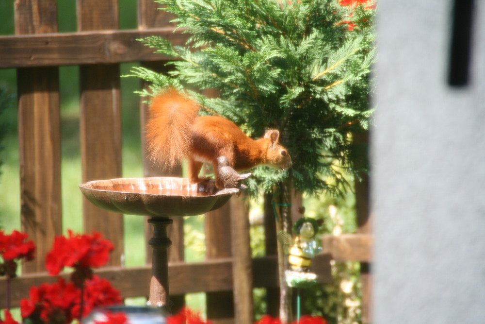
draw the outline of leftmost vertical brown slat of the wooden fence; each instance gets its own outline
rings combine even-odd
[[[16,0],[16,34],[57,32],[56,1]],[[22,231],[36,243],[24,273],[45,271],[45,256],[62,233],[58,68],[17,69]]]

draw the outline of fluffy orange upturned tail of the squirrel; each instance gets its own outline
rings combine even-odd
[[[198,111],[197,102],[173,88],[163,90],[152,99],[146,124],[146,148],[156,163],[172,169],[189,155],[192,124]]]

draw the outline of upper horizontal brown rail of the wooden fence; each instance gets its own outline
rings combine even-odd
[[[148,36],[183,45],[187,35],[174,28],[96,31],[0,37],[0,68],[63,66],[168,60],[137,39]]]

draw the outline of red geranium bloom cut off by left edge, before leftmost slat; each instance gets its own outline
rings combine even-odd
[[[16,230],[10,235],[6,235],[3,230],[0,230],[0,255],[4,260],[9,261],[21,258],[32,260],[35,245],[32,240],[25,241],[27,238],[27,234],[20,233]]]

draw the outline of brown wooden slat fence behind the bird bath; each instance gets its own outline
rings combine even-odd
[[[12,283],[14,306],[28,295],[32,285],[54,280],[45,273],[44,256],[54,236],[62,234],[58,67],[78,65],[80,68],[82,181],[117,178],[122,176],[119,64],[141,62],[157,68],[168,59],[154,54],[136,41],[137,38],[162,35],[175,44],[185,42],[185,35],[173,33],[170,17],[157,10],[158,4],[152,0],[138,0],[137,5],[138,29],[118,30],[118,0],[77,0],[78,31],[58,33],[56,0],[16,0],[16,35],[0,36],[0,68],[17,70],[21,226],[37,246],[35,260],[25,263],[22,275]],[[145,120],[143,103],[140,103],[140,113],[142,121]],[[161,174],[145,163],[145,175]],[[169,248],[169,282],[174,308],[183,305],[184,294],[203,291],[207,293],[207,314],[213,323],[250,323],[251,288],[264,287],[268,312],[277,314],[275,224],[271,205],[266,204],[266,207],[267,255],[254,259],[251,259],[249,248],[247,208],[241,199],[232,198],[230,204],[205,217],[207,253],[204,262],[184,262],[183,220],[174,220],[168,228],[173,242]],[[364,214],[361,228],[365,229],[367,212]],[[97,273],[109,279],[125,298],[146,296],[150,266],[121,267],[122,216],[84,200],[83,224],[84,231],[95,229],[115,245],[110,264]],[[146,237],[151,237],[148,225]],[[368,237],[364,240],[365,244],[369,243]],[[326,241],[332,244],[328,245],[327,254],[315,259],[315,266],[322,281],[329,282],[330,254],[342,247],[338,244],[342,240],[327,237]],[[339,251],[348,252],[348,244],[354,243],[347,241]],[[362,245],[361,242],[355,244]],[[150,250],[148,247],[148,264]],[[5,305],[4,288],[5,282],[0,280],[0,305]]]

